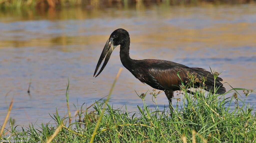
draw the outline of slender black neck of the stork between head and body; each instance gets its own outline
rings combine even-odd
[[[129,70],[132,67],[133,59],[130,58],[130,39],[128,39],[124,44],[120,45],[120,59],[125,68]]]

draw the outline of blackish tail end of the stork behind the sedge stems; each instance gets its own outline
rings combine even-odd
[[[207,80],[205,81],[205,90],[214,92],[214,76],[203,68],[193,67],[191,69],[193,69],[193,71],[198,74],[198,78],[202,78],[202,76],[206,77]],[[223,81],[220,77],[217,77],[215,80],[217,94],[222,94],[226,92],[226,88],[223,87],[223,84],[220,81]]]

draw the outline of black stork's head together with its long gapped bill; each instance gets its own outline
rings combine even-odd
[[[105,61],[102,65],[99,73],[95,77],[97,77],[102,72],[102,70],[105,68],[106,64],[109,61],[110,55],[113,52],[113,50],[115,49],[115,47],[118,45],[124,45],[127,42],[130,42],[130,36],[126,30],[119,28],[119,29],[113,31],[103,48],[103,51],[100,55],[100,59],[98,61],[98,64],[96,66],[93,76],[95,76],[95,74],[97,73],[97,70],[99,69],[100,64],[102,63],[103,59],[105,58]]]

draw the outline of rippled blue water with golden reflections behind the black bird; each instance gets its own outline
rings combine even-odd
[[[232,87],[255,89],[256,5],[202,5],[63,10],[22,10],[0,13],[0,122],[14,97],[10,116],[15,124],[47,123],[48,113],[67,116],[69,103],[87,105],[108,94],[123,67],[119,46],[97,77],[93,73],[109,35],[117,28],[130,33],[133,59],[164,59],[190,67],[224,71]],[[31,81],[30,95],[27,93]],[[230,86],[225,83],[229,90]],[[138,93],[152,90],[123,69],[112,94],[116,108],[142,105]],[[151,104],[151,97],[146,96]],[[255,104],[255,93],[247,98]],[[168,104],[163,93],[160,106]]]

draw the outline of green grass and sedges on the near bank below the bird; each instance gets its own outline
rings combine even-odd
[[[215,79],[218,75],[219,73],[214,72]],[[162,110],[158,108],[157,96],[160,92],[156,90],[138,94],[143,107],[138,106],[137,112],[114,109],[108,104],[108,99],[117,76],[105,100],[97,101],[89,107],[84,107],[84,104],[81,107],[74,105],[77,111],[68,112],[68,118],[60,117],[56,108],[56,113],[50,115],[56,123],[55,126],[41,123],[39,129],[30,125],[28,128],[17,130],[18,127],[12,125],[10,118],[10,127],[1,133],[16,136],[12,139],[29,143],[256,142],[255,110],[249,104],[244,104],[252,90],[232,88],[225,94],[218,95],[198,89],[194,90],[195,95],[192,95],[182,91],[191,88],[196,80],[202,82],[203,88],[204,79],[197,79],[193,73],[188,77],[189,84],[185,86],[182,83],[181,91],[173,99],[173,112],[170,112],[168,107]],[[244,99],[238,92],[241,90],[245,95]],[[233,95],[225,97],[228,93]],[[146,104],[145,96],[152,96],[153,108]],[[66,97],[69,111],[68,88]],[[8,114],[11,106],[12,102]],[[70,117],[72,115],[74,116]],[[8,118],[8,115],[6,117]]]

